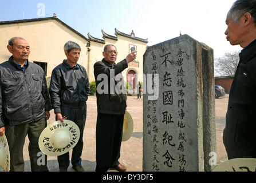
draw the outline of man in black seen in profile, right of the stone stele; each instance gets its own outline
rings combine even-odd
[[[230,89],[223,143],[229,159],[256,158],[256,0],[234,2],[226,24],[227,41],[243,50]]]

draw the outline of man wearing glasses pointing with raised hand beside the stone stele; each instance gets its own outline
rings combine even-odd
[[[133,51],[123,61],[115,63],[117,59],[116,46],[106,45],[103,51],[104,58],[102,61],[94,64],[98,113],[96,126],[96,172],[107,172],[109,168],[115,168],[121,172],[127,170],[119,162],[124,114],[127,108],[126,91],[124,90],[121,72],[128,67],[129,62],[136,58],[136,52]],[[122,85],[120,85],[120,82],[122,82]],[[120,90],[125,92],[120,92]]]

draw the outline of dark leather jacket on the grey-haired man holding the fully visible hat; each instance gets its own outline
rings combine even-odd
[[[66,59],[52,71],[50,97],[54,113],[61,113],[61,105],[84,106],[90,92],[89,78],[83,66],[70,66]]]

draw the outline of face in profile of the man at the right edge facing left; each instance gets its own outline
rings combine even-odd
[[[225,35],[227,35],[227,41],[229,41],[231,45],[239,45],[242,42],[244,34],[242,21],[242,18],[240,18],[238,22],[234,22],[231,17],[227,17],[226,19],[227,29]]]

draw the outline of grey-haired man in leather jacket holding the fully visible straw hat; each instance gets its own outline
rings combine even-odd
[[[55,67],[50,81],[50,97],[56,120],[68,119],[77,124],[80,138],[72,151],[72,168],[84,172],[81,165],[82,141],[85,120],[86,101],[90,92],[89,79],[85,68],[78,64],[81,47],[72,41],[65,43],[64,51],[67,59]],[[66,172],[69,166],[69,152],[58,156],[60,172]]]

